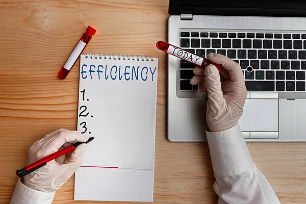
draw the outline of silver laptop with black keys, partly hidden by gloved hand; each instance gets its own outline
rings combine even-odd
[[[246,141],[306,141],[306,1],[170,0],[168,42],[240,64],[248,91],[239,120]],[[168,139],[207,141],[207,92],[194,65],[168,57]]]

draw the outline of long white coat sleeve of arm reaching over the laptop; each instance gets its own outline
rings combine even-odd
[[[253,162],[239,124],[221,132],[206,131],[216,181],[223,203],[281,203]]]

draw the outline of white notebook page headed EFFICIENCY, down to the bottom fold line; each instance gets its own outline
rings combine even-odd
[[[78,130],[95,139],[82,166],[154,169],[158,59],[81,55]]]

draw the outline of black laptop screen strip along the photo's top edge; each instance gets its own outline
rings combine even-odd
[[[170,0],[169,14],[246,15],[246,16],[302,16],[306,17],[304,0],[256,1],[196,1]]]

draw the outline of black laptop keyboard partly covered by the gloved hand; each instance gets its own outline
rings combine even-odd
[[[240,64],[248,91],[305,91],[306,34],[181,32],[180,46],[206,57],[218,53]],[[180,91],[190,85],[195,65],[180,60]]]

